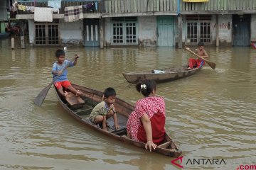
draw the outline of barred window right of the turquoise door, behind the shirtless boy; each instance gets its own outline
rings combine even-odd
[[[197,44],[198,42],[211,42],[210,15],[188,15],[186,16],[186,44]]]

